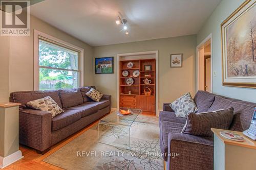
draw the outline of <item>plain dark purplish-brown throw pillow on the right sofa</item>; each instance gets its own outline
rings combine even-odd
[[[181,133],[198,136],[214,136],[211,128],[229,129],[233,119],[233,108],[212,112],[189,114]]]

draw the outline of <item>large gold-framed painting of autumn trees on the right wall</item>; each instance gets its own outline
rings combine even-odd
[[[256,88],[256,7],[244,2],[222,24],[224,86]]]

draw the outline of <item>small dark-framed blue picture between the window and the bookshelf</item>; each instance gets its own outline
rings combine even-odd
[[[113,74],[114,57],[95,58],[95,74]]]

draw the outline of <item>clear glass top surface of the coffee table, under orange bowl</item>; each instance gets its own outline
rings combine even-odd
[[[122,110],[128,110],[129,108],[120,108]],[[109,115],[105,116],[100,120],[100,124],[112,124],[112,125],[122,125],[131,126],[137,116],[142,112],[141,109],[129,109],[133,114],[120,116],[117,114],[118,111],[114,111]]]

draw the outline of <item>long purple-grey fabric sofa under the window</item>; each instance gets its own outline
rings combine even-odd
[[[111,111],[111,95],[103,95],[100,102],[86,96],[91,87],[68,90],[18,91],[10,94],[10,102],[19,107],[19,143],[44,154],[51,146],[93,123]],[[51,113],[33,110],[27,102],[51,96],[64,110],[51,117]]]

